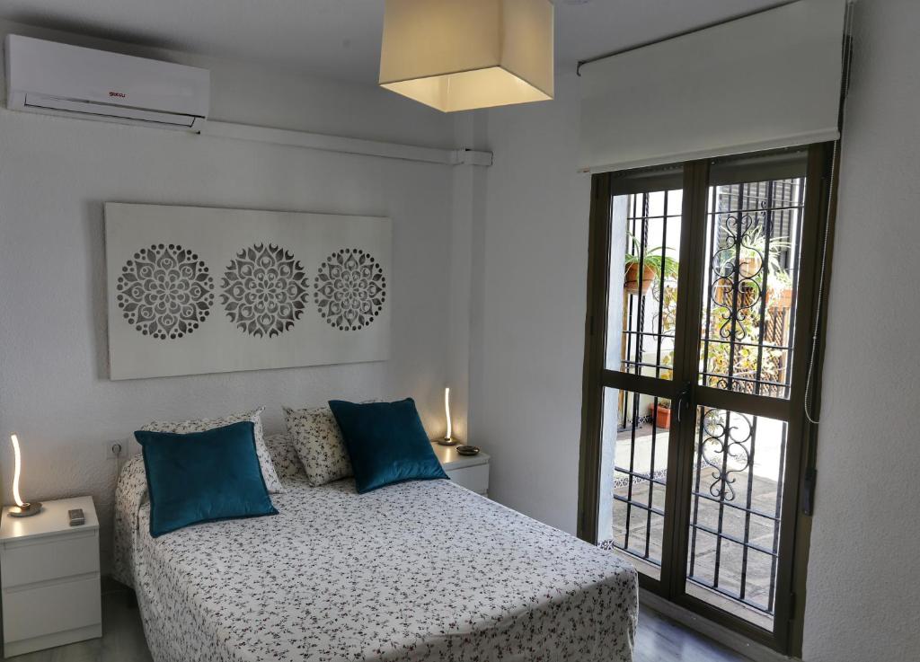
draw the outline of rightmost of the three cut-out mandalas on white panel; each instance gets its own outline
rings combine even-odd
[[[380,264],[357,248],[342,248],[319,268],[313,290],[316,307],[340,331],[358,331],[380,314],[386,278]]]

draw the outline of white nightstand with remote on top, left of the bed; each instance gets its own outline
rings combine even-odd
[[[86,524],[67,511],[83,508]],[[45,501],[29,518],[0,519],[4,656],[102,636],[99,520],[92,497]]]

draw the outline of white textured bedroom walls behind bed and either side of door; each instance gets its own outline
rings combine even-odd
[[[908,417],[920,402],[917,26],[920,6],[911,0],[857,4],[808,662],[906,660],[920,649],[920,435]],[[10,29],[41,36],[0,24]],[[89,492],[108,520],[115,465],[103,459],[102,440],[154,417],[267,404],[268,427],[278,429],[282,404],[413,394],[440,434],[441,389],[463,384],[468,365],[466,437],[494,458],[491,495],[575,531],[590,179],[575,173],[574,75],[559,75],[556,101],[470,114],[454,133],[450,118],[372,87],[151,54],[213,69],[215,119],[440,146],[463,140],[494,150],[495,165],[467,177],[443,166],[0,110],[0,432],[17,428],[27,445],[25,494]],[[392,216],[393,358],[109,382],[105,200]],[[2,438],[0,462],[8,502]]]

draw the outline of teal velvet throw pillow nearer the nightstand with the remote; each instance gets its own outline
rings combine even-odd
[[[147,432],[144,450],[150,535],[198,522],[277,515],[265,487],[252,421],[204,432]]]

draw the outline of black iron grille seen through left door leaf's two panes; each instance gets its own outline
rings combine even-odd
[[[611,263],[623,267],[611,269],[608,324],[622,332],[618,345],[608,347],[607,365],[671,380],[683,191],[615,196],[614,210],[625,246],[623,253],[615,246],[611,255]],[[602,536],[600,545],[660,568],[668,429],[656,419],[660,408],[670,416],[670,403],[628,391],[607,395],[605,416],[615,417],[614,517],[611,537]]]

